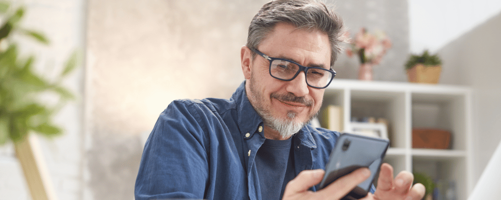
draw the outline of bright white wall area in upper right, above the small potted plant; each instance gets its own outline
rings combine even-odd
[[[435,52],[501,10],[499,0],[408,0],[410,51]]]

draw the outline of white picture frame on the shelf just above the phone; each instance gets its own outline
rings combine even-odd
[[[385,123],[350,122],[351,133],[388,139],[388,129]]]

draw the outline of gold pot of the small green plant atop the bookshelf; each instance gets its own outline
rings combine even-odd
[[[436,84],[440,79],[441,72],[441,65],[425,66],[423,64],[416,64],[412,68],[407,69],[407,77],[409,78],[409,82]]]

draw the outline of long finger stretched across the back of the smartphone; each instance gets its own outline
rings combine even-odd
[[[363,182],[371,175],[368,168],[359,168],[336,181],[329,184],[324,189],[317,192],[318,199],[325,199],[327,197],[339,199],[348,194],[355,186]]]

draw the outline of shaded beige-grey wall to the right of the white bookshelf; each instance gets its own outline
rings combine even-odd
[[[499,35],[501,13],[438,50],[444,63],[440,83],[468,85],[473,90],[473,183],[501,140]]]

